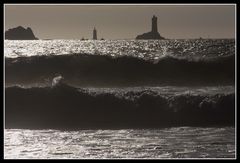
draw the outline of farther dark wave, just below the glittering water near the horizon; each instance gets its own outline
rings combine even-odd
[[[49,84],[56,75],[77,86],[229,85],[235,81],[234,55],[189,60],[87,54],[5,58],[6,85]]]

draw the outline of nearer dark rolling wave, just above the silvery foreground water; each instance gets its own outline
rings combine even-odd
[[[6,128],[91,129],[234,125],[235,95],[91,93],[68,85],[6,88]]]

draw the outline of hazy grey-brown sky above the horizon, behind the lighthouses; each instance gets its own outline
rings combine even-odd
[[[31,27],[40,39],[135,38],[151,30],[166,38],[234,38],[234,5],[5,5],[5,30]]]

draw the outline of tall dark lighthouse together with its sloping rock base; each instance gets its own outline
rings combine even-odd
[[[156,40],[162,40],[165,39],[160,35],[157,28],[157,17],[153,15],[152,17],[152,31],[143,33],[142,35],[138,35],[136,39],[156,39]]]

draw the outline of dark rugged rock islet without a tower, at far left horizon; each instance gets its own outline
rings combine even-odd
[[[23,28],[18,26],[16,28],[11,28],[5,32],[5,39],[7,40],[38,40],[33,34],[31,28]]]

